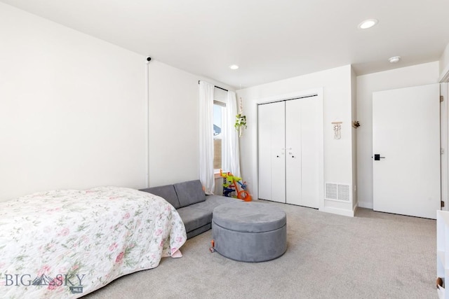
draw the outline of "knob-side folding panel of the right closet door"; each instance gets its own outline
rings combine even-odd
[[[286,202],[302,204],[301,101],[286,101]]]

